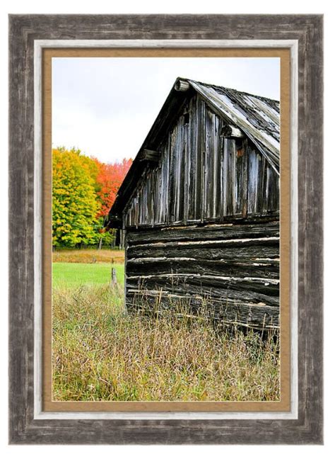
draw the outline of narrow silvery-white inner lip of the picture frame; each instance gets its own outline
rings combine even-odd
[[[290,411],[43,412],[42,410],[42,52],[47,49],[204,48],[290,50]],[[297,419],[298,417],[298,40],[34,40],[34,404],[35,419]]]

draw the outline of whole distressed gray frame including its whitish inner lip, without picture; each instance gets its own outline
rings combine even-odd
[[[320,15],[9,17],[10,443],[322,443],[322,22]],[[252,42],[259,47],[266,40],[266,47],[291,49],[291,86],[298,86],[291,99],[291,229],[296,236],[291,259],[296,268],[291,273],[291,363],[298,372],[295,368],[291,373],[290,415],[66,416],[41,410],[39,56],[50,44],[112,47],[125,40],[136,47],[163,47],[167,40],[176,47],[216,47],[218,42],[230,47]]]

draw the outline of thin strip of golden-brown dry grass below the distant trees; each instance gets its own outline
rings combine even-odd
[[[52,261],[61,263],[124,263],[124,250],[61,249],[52,253]]]

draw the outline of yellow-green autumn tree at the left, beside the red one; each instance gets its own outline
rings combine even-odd
[[[52,150],[52,244],[92,245],[98,241],[98,165],[79,150]]]

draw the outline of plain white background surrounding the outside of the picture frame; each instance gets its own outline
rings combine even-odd
[[[0,448],[1,456],[5,458],[64,458],[76,455],[77,458],[86,459],[99,455],[105,457],[132,457],[140,458],[203,458],[211,455],[216,457],[240,458],[334,458],[335,457],[335,302],[334,293],[334,13],[329,0],[310,1],[301,3],[292,0],[240,0],[240,1],[211,1],[198,2],[196,0],[169,0],[169,1],[118,1],[112,3],[107,0],[3,0],[0,15],[0,47],[1,47],[1,72],[0,72],[0,101],[1,101],[1,165],[0,165],[0,196],[1,196],[1,333],[0,333]],[[324,124],[324,227],[325,227],[325,300],[324,300],[324,377],[325,377],[325,426],[324,446],[7,446],[7,182],[6,161],[8,141],[8,96],[7,96],[7,48],[8,48],[8,13],[324,13],[324,50],[325,50],[325,108],[326,118]],[[319,154],[317,152],[317,154]],[[322,205],[322,203],[320,203]],[[18,212],[19,216],[19,212]],[[18,218],[18,225],[20,220]]]

